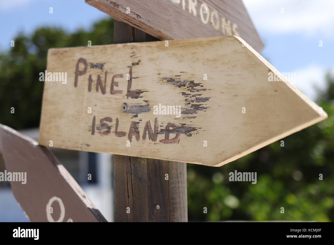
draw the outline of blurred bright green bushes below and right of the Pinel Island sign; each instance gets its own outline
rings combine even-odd
[[[328,119],[282,139],[284,147],[277,141],[219,168],[188,164],[189,220],[333,222],[334,79],[329,75],[320,98]],[[230,182],[234,170],[257,172],[257,184]]]

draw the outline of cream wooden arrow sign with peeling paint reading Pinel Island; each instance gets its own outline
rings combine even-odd
[[[47,62],[45,146],[221,166],[327,117],[234,36],[50,49]]]

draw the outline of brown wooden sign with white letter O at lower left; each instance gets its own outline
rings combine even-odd
[[[6,165],[2,174],[30,221],[106,222],[47,148],[2,124],[0,147]]]

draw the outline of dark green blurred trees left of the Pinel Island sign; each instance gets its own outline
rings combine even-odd
[[[0,123],[14,129],[38,127],[43,83],[39,73],[46,70],[49,48],[112,44],[113,19],[102,20],[91,31],[68,34],[60,28],[43,27],[32,35],[18,34],[15,46],[0,54]],[[15,113],[11,112],[14,107]]]

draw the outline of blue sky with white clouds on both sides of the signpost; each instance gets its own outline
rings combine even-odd
[[[325,73],[334,74],[334,0],[243,2],[265,43],[261,54],[279,71],[296,72],[294,85],[315,99],[313,86],[323,88]],[[8,50],[20,31],[48,25],[71,32],[107,17],[85,0],[0,0],[0,51]]]

